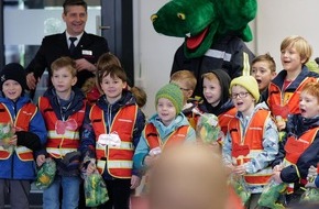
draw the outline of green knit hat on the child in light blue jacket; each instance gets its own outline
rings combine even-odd
[[[175,84],[168,84],[162,87],[155,96],[155,108],[157,107],[158,99],[168,99],[176,109],[176,114],[182,112],[183,109],[183,92],[180,88]]]

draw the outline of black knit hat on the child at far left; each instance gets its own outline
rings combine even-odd
[[[26,89],[26,75],[24,68],[18,63],[10,63],[6,65],[0,73],[0,90],[6,80],[15,80],[21,87],[22,91]]]

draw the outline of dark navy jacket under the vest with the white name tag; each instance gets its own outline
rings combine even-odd
[[[105,119],[110,119],[110,123],[112,123],[114,116],[118,113],[118,111],[125,107],[125,106],[132,106],[135,105],[135,98],[133,95],[128,91],[123,90],[122,91],[122,98],[119,99],[116,103],[110,105],[107,101],[106,96],[101,96],[98,101],[97,106],[101,108],[105,112]],[[107,122],[106,122],[107,123]],[[138,116],[136,116],[136,121],[135,125],[133,129],[133,145],[134,147],[138,146],[141,133],[144,129],[145,124],[145,117],[144,113],[139,109],[138,110]],[[107,127],[107,131],[109,128]],[[81,143],[80,143],[80,152],[82,153],[84,156],[89,155],[92,158],[96,158],[96,134],[91,125],[91,121],[89,119],[89,116],[86,117],[85,122],[84,122],[84,130],[81,134]],[[108,166],[108,165],[107,165]],[[138,170],[133,167],[132,175],[138,175]],[[105,173],[102,174],[105,179],[112,179],[113,177],[108,173],[108,169],[105,169]]]

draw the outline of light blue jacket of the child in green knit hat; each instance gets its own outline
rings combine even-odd
[[[183,125],[189,125],[188,120],[186,119],[186,117],[183,113],[179,113],[168,127],[165,127],[161,122],[157,113],[154,114],[148,120],[148,123],[154,124],[154,127],[156,128],[156,130],[158,132],[160,139],[162,140],[163,143],[170,136],[170,134],[176,129],[178,129],[179,127],[183,127]],[[150,152],[150,147],[146,143],[144,132],[145,132],[145,130],[143,131],[143,134],[141,136],[141,140],[139,142],[139,145],[135,150],[134,157],[133,157],[134,167],[136,167],[140,170],[140,173],[144,168],[144,158]],[[195,142],[195,141],[196,141],[195,130],[193,128],[190,128],[188,133],[187,133],[187,136],[186,136],[186,142]]]

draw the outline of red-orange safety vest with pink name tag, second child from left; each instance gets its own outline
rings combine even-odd
[[[38,108],[47,129],[46,151],[54,158],[63,158],[79,147],[79,129],[85,118],[84,107],[68,117],[66,121],[57,119],[48,98],[38,98]]]

